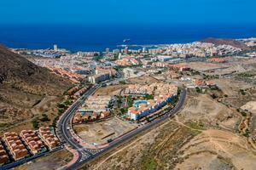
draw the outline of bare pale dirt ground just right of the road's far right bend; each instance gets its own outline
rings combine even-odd
[[[235,129],[241,115],[236,110],[213,100],[208,94],[190,95],[180,114],[183,122],[203,122],[207,126]]]

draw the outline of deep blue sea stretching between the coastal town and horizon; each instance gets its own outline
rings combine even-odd
[[[193,42],[207,37],[256,37],[256,25],[56,25],[0,26],[0,43],[9,48],[60,48],[103,51],[124,44]]]

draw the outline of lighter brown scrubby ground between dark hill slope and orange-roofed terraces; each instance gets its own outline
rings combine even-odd
[[[42,113],[48,115],[50,122],[42,122],[41,126],[51,124],[57,115],[56,104],[62,101],[61,97],[56,96],[45,96],[41,98],[38,98],[38,96],[24,98],[23,96],[22,98],[21,95],[16,94],[15,98],[21,101],[19,105],[24,108],[17,111],[8,111],[9,114],[0,114],[0,134],[7,131],[19,133],[20,129],[32,129],[32,120]]]

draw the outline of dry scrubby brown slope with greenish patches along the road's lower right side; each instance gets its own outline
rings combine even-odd
[[[197,133],[169,120],[84,169],[172,169],[181,161],[176,154],[179,148]]]

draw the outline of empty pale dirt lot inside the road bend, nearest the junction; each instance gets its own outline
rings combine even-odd
[[[135,127],[135,125],[131,125],[129,122],[123,122],[118,118],[113,117],[103,122],[75,125],[73,129],[89,144],[104,144],[108,139],[115,139]],[[103,139],[109,134],[112,135]]]

